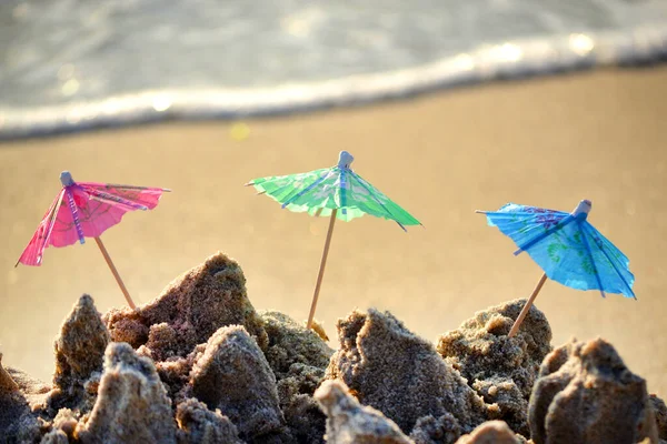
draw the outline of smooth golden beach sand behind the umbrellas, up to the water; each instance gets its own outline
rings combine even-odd
[[[354,307],[389,310],[428,340],[475,311],[527,296],[541,271],[474,210],[507,201],[569,211],[629,258],[638,301],[547,282],[537,299],[554,345],[603,336],[667,396],[667,67],[598,71],[444,91],[310,115],[170,122],[0,144],[0,349],[3,364],[50,380],[53,337],[81,293],[123,303],[94,242],[48,249],[13,269],[59,190],[74,180],[167,186],[152,212],[102,239],[137,303],[220,250],[239,261],[256,309],[306,319],[327,220],[280,210],[249,179],[331,165],[358,173],[417,216],[406,234],[371,216],[337,223],[317,317],[334,339]],[[332,341],[334,345],[336,341]]]

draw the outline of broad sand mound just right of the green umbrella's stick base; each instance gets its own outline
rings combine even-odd
[[[407,433],[428,415],[450,413],[464,431],[487,417],[484,400],[460,374],[390,313],[355,311],[338,321],[338,339],[327,379],[345,382]]]

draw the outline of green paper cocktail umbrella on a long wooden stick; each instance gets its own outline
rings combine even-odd
[[[253,179],[246,184],[253,185],[258,194],[269,195],[283,209],[297,213],[308,212],[315,216],[330,216],[325,251],[308,315],[308,329],[312,325],[336,219],[348,222],[364,214],[371,214],[395,221],[404,231],[407,231],[406,225],[421,225],[417,219],[352,171],[350,163],[354,160],[350,153],[341,151],[336,167],[308,173]]]

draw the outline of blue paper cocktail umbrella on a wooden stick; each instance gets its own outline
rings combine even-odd
[[[477,211],[486,214],[490,226],[515,241],[519,248],[515,255],[525,251],[544,270],[509,332],[510,337],[519,330],[547,278],[577,290],[599,290],[603,297],[607,292],[637,299],[628,258],[588,223],[590,209],[590,201],[583,200],[571,213],[516,203],[495,212]]]

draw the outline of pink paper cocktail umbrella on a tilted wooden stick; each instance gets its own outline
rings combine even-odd
[[[128,304],[136,307],[111,258],[100,239],[104,230],[116,225],[128,211],[152,210],[165,191],[161,188],[74,182],[69,171],[60,173],[62,189],[51,203],[17,265],[39,266],[49,245],[67,246],[84,238],[97,242]]]

